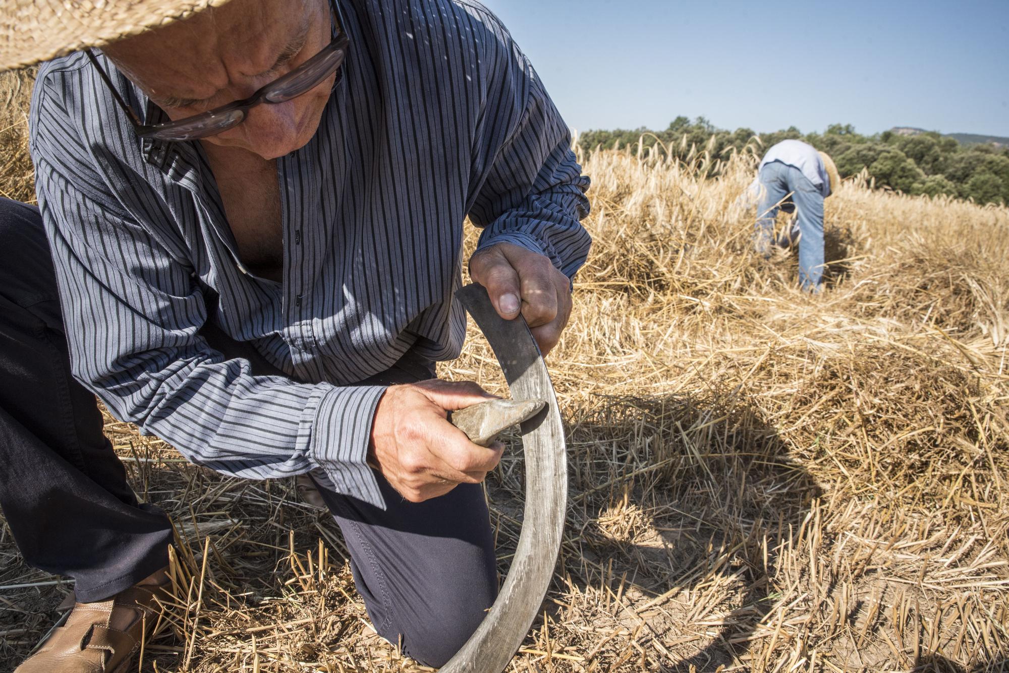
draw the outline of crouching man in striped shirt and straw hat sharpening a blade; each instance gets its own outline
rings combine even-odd
[[[170,524],[137,505],[88,391],[223,474],[311,474],[375,628],[439,666],[496,590],[478,484],[501,448],[445,418],[486,394],[432,380],[465,333],[462,223],[483,228],[472,277],[546,353],[588,179],[475,2],[233,0],[164,25],[205,4],[32,12],[106,45],[38,74],[41,224],[0,205],[0,503],[79,601],[18,670],[125,670],[154,622]],[[0,64],[68,46],[22,32]]]

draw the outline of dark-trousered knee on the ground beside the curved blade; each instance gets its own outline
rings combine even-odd
[[[489,516],[478,485],[408,503],[384,481],[386,509],[323,491],[344,531],[354,579],[378,634],[441,666],[483,621],[497,595]]]

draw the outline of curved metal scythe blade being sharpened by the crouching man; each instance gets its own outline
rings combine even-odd
[[[554,574],[567,512],[567,451],[553,384],[526,321],[497,315],[480,285],[467,285],[455,296],[486,335],[513,399],[547,403],[522,424],[526,510],[512,568],[483,623],[441,668],[442,673],[499,673],[522,645]]]

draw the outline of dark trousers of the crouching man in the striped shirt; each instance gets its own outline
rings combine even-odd
[[[268,368],[213,327],[229,357]],[[273,373],[273,372],[255,372]],[[433,376],[407,358],[367,383]],[[351,552],[378,633],[431,665],[445,663],[496,593],[481,488],[410,503],[382,479],[384,511],[322,490]],[[78,600],[106,599],[167,563],[167,517],[140,505],[102,433],[94,396],[71,376],[52,262],[38,211],[0,198],[0,508],[25,561],[75,579]]]

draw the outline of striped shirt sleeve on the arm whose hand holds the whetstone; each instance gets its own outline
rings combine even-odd
[[[73,371],[119,418],[193,462],[248,479],[321,469],[346,495],[382,507],[365,464],[378,386],[253,376],[200,335],[192,269],[107,193],[80,187],[34,148],[36,190],[60,284]],[[60,161],[67,165],[67,155]]]

